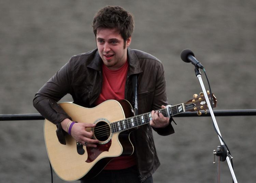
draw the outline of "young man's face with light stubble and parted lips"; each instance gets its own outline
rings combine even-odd
[[[103,63],[111,70],[120,68],[127,60],[127,47],[131,37],[124,39],[116,29],[100,28],[97,30],[96,42]]]

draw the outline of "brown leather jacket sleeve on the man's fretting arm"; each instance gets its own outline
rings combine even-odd
[[[161,108],[161,105],[168,105],[167,93],[166,93],[166,79],[163,64],[160,62],[160,66],[157,69],[155,94],[152,104],[152,110]],[[152,127],[159,135],[166,136],[174,133],[171,122],[174,121],[170,118],[169,124],[164,128]]]

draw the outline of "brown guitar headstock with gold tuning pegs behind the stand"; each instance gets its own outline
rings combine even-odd
[[[216,107],[216,103],[217,103],[216,97],[214,96],[214,94],[212,94],[211,96],[211,94],[209,94],[209,91],[207,91],[207,93],[208,93],[208,98],[210,102],[211,100],[213,100],[213,107]],[[203,92],[201,92],[199,96],[197,94],[194,94],[194,99],[191,99],[186,103],[184,103],[184,106],[185,106],[185,111],[198,111],[197,112],[198,116],[202,114],[200,110],[204,110],[206,114],[206,109],[208,109],[208,105],[205,100],[205,96],[203,95]]]

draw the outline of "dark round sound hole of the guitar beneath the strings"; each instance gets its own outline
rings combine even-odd
[[[110,137],[110,126],[105,121],[100,121],[94,127],[94,136],[99,141],[106,141]]]

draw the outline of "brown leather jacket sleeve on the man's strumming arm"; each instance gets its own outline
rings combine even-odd
[[[35,94],[34,107],[47,120],[54,124],[71,117],[57,104],[71,90],[70,61],[65,64],[44,86]]]

